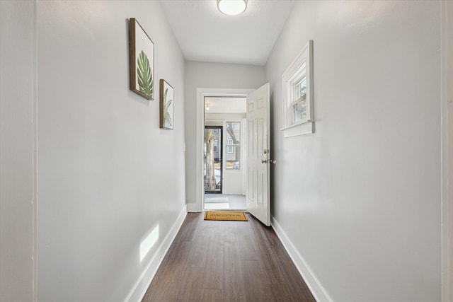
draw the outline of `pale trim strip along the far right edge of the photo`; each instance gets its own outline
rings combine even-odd
[[[453,301],[453,4],[442,0],[441,170],[442,302]]]

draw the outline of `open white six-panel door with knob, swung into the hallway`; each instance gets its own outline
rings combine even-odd
[[[247,95],[247,210],[270,226],[269,83]]]

